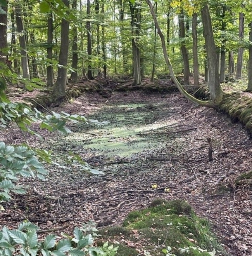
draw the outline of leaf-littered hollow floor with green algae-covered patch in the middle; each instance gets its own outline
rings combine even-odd
[[[177,92],[113,92],[106,99],[86,94],[54,111],[110,123],[71,124],[68,136],[41,131],[42,144],[28,141],[53,150],[55,162],[68,151],[79,154],[104,175],[90,176],[78,165],[50,165],[47,181],[29,180],[28,193],[4,205],[1,226],[16,227],[28,219],[41,232],[72,232],[90,219],[98,227],[119,225],[130,211],[157,198],[185,199],[198,216],[209,219],[229,255],[252,255],[252,190],[235,186],[252,166],[252,140],[242,125]],[[11,129],[0,139],[22,142]]]

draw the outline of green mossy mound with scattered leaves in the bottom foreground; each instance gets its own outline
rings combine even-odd
[[[123,227],[104,228],[100,234],[118,246],[117,255],[121,256],[136,256],[144,251],[152,256],[225,255],[208,221],[198,218],[183,200],[154,200],[147,209],[129,213]]]

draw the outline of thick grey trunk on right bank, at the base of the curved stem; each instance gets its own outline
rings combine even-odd
[[[223,96],[223,91],[219,83],[218,61],[216,54],[216,45],[212,31],[212,22],[207,4],[201,9],[203,34],[205,38],[205,49],[207,52],[207,63],[209,70],[209,91],[212,101],[219,103]]]

